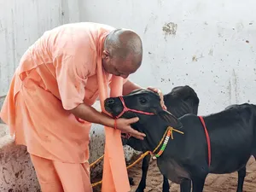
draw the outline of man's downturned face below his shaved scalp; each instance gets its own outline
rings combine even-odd
[[[137,71],[137,65],[134,65],[135,58],[132,55],[126,59],[116,58],[109,55],[108,51],[102,53],[102,65],[106,72],[115,76],[120,76],[124,79],[128,78],[131,73]]]

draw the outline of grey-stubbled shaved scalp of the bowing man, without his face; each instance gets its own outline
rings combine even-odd
[[[116,29],[106,38],[104,49],[112,57],[126,60],[130,58],[139,67],[143,60],[143,43],[136,32],[127,29]]]

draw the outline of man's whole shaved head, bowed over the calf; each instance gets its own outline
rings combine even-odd
[[[108,73],[127,78],[143,61],[143,43],[136,32],[116,29],[105,39],[102,66]]]

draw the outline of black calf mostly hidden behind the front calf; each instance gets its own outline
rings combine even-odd
[[[197,114],[198,106],[200,102],[197,94],[195,93],[195,90],[193,90],[188,85],[174,87],[170,93],[164,95],[164,101],[165,101],[167,110],[177,118],[183,116],[186,113]],[[124,145],[127,144],[130,146],[129,139],[123,138],[122,142]],[[143,159],[143,166],[142,166],[143,174],[136,192],[143,192],[144,189],[146,188],[146,178],[148,173],[150,156],[151,155],[148,154]],[[129,177],[129,180],[130,180],[130,183],[133,183],[131,177]],[[167,192],[169,191],[169,189],[170,189],[170,185],[168,183],[168,179],[165,176],[163,176],[162,191]]]

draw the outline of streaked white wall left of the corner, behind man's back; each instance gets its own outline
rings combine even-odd
[[[79,21],[79,1],[0,2],[0,98],[5,96],[20,57],[44,31]]]

